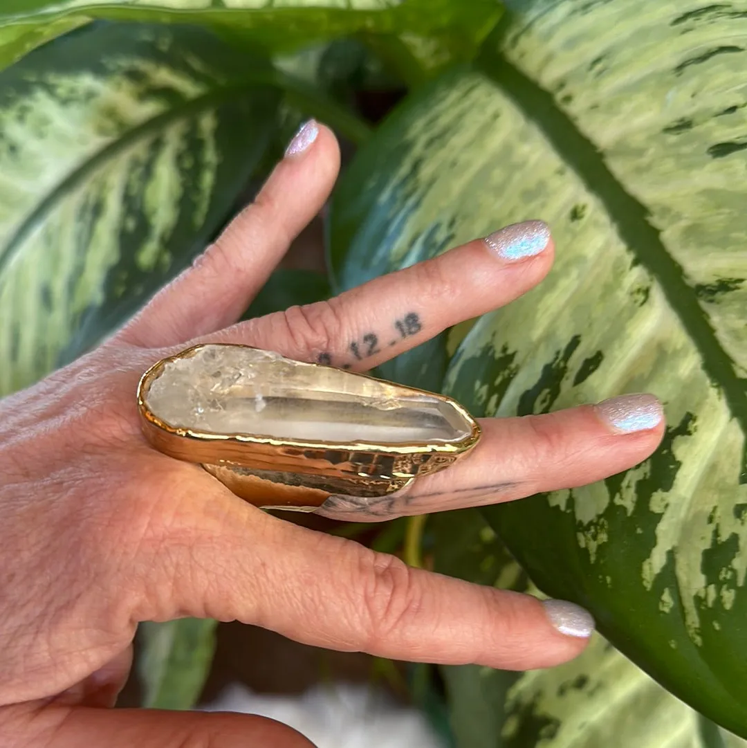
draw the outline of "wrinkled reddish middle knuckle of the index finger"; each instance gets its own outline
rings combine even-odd
[[[389,554],[370,551],[363,558],[363,622],[366,648],[375,651],[392,639],[422,607],[413,569]]]

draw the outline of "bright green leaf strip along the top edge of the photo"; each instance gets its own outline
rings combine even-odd
[[[498,0],[3,0],[0,68],[65,24],[108,19],[209,26],[268,53],[357,33],[383,35],[407,50],[411,66],[399,60],[399,68],[417,77],[472,59],[499,15]]]

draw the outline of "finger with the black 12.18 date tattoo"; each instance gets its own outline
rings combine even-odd
[[[508,304],[539,283],[552,262],[547,224],[526,221],[329,301],[240,322],[209,340],[367,370]]]

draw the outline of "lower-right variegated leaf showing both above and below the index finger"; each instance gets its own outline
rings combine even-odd
[[[434,515],[435,570],[536,594],[476,509]],[[517,673],[442,667],[458,748],[745,748],[598,634],[571,662]]]

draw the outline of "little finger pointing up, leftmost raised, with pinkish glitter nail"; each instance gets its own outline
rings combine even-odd
[[[242,316],[292,239],[322,209],[339,171],[332,132],[313,120],[304,128],[253,203],[156,294],[120,340],[151,348],[176,345]]]

